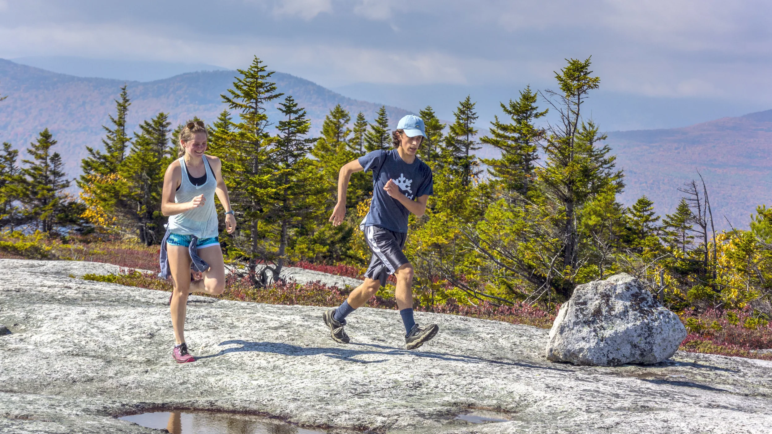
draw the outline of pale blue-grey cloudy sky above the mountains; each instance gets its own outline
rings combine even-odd
[[[337,87],[549,86],[564,58],[592,56],[607,92],[766,107],[770,24],[761,0],[0,0],[0,57],[257,55]]]

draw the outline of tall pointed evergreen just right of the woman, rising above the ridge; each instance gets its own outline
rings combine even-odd
[[[223,169],[227,169],[223,176],[237,218],[244,222],[239,226],[243,237],[234,237],[234,245],[249,258],[252,283],[257,284],[254,272],[262,239],[259,223],[264,215],[266,198],[275,195],[273,173],[268,167],[273,138],[266,131],[269,126],[266,108],[283,93],[276,93],[276,83],[269,81],[273,72],[267,71],[257,57],[248,69],[238,71],[241,76],[236,77],[232,88],[222,95],[229,109],[239,113],[239,121],[223,137],[228,147],[222,154],[230,162],[223,165]],[[242,238],[247,241],[241,242]]]

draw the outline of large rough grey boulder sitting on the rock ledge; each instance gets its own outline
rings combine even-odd
[[[550,330],[547,359],[589,366],[655,364],[686,337],[678,315],[626,273],[579,285]]]

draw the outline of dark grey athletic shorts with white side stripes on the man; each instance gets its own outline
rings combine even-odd
[[[365,226],[364,241],[370,247],[373,257],[364,276],[372,280],[381,280],[381,287],[385,287],[389,274],[394,274],[399,267],[410,263],[405,253],[402,253],[407,239],[408,234],[405,232],[393,232],[378,226]]]

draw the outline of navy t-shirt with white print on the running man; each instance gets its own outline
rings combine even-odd
[[[405,163],[396,149],[364,154],[359,158],[359,164],[364,171],[373,171],[373,202],[364,225],[407,233],[410,212],[388,195],[384,186],[393,179],[399,191],[413,201],[422,195],[432,195],[432,169],[418,157],[412,164]]]

